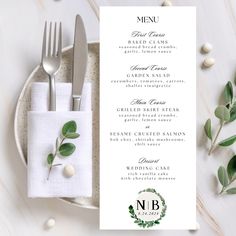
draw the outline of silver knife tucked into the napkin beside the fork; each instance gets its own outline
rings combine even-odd
[[[73,74],[72,74],[72,111],[80,110],[82,88],[87,68],[88,44],[84,23],[80,15],[76,16]]]

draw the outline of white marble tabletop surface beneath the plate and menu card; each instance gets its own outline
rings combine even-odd
[[[191,0],[173,0],[174,5],[193,4]],[[198,43],[214,45],[211,55],[216,65],[207,71],[200,69],[205,58],[197,54],[198,152],[197,185],[207,209],[221,226],[224,234],[235,235],[236,196],[217,197],[216,169],[227,162],[232,151],[207,157],[203,144],[202,124],[213,115],[222,87],[232,80],[236,71],[236,2],[235,0],[197,0]],[[98,4],[160,5],[158,0],[97,0]],[[21,236],[90,236],[90,235],[157,235],[213,236],[217,235],[198,214],[201,229],[188,231],[99,231],[98,211],[79,209],[57,199],[30,200],[26,197],[26,170],[19,159],[13,135],[15,104],[21,88],[40,61],[43,23],[45,19],[60,19],[64,26],[64,45],[73,40],[75,14],[80,13],[89,39],[98,38],[98,20],[86,0],[0,0],[0,235]],[[186,59],[187,60],[187,59]],[[235,130],[235,132],[234,132]],[[222,137],[236,133],[236,123]],[[235,148],[234,148],[235,149]],[[188,186],[186,186],[187,188]],[[56,218],[50,231],[44,221]]]

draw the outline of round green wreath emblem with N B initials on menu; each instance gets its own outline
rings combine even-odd
[[[153,188],[140,191],[139,198],[136,200],[135,208],[133,205],[129,206],[130,217],[134,219],[134,223],[141,228],[160,224],[167,209],[165,199]]]

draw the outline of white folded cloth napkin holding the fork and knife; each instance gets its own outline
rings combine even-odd
[[[32,84],[32,111],[28,113],[28,196],[29,197],[91,197],[92,196],[92,111],[91,84],[85,83],[81,111],[70,111],[71,84],[57,83],[57,110],[48,112],[48,84]],[[74,120],[78,139],[75,152],[69,157],[56,157],[47,180],[47,155],[54,152],[55,141],[63,125]],[[75,175],[63,175],[66,164],[75,168]]]

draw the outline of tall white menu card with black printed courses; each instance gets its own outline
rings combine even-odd
[[[100,228],[195,229],[196,9],[100,14]]]

